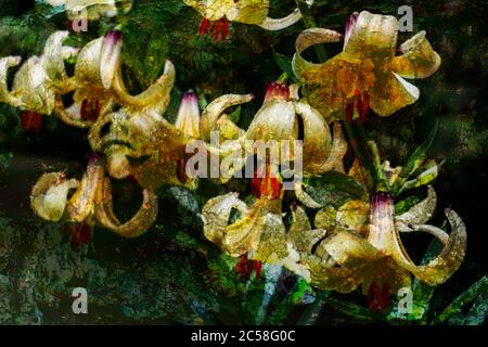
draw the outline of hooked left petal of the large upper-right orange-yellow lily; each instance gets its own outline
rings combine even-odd
[[[311,28],[301,31],[295,42],[296,53],[293,56],[292,62],[294,74],[299,78],[304,74],[304,72],[319,69],[324,64],[313,64],[306,61],[301,56],[301,53],[307,48],[319,43],[338,42],[342,40],[342,38],[343,36],[339,33],[323,28]]]

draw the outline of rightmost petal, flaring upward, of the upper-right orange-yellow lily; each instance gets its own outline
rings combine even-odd
[[[404,78],[426,78],[440,66],[441,59],[420,31],[400,46],[402,55],[395,56],[391,69]]]

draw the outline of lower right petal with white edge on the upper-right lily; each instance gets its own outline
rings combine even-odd
[[[404,106],[413,104],[420,97],[420,90],[396,73],[386,75],[370,89],[370,105],[378,116],[386,117]]]

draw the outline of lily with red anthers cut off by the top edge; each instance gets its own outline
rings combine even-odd
[[[281,30],[294,25],[301,18],[298,9],[295,9],[284,18],[270,18],[269,0],[183,0],[203,16],[198,30],[203,36],[207,33],[214,35],[214,41],[219,36],[224,41],[229,33],[229,22],[258,25],[266,30]],[[311,5],[313,0],[308,1]]]

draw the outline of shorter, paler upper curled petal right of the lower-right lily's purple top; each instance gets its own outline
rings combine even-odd
[[[409,232],[409,224],[424,224],[434,215],[437,205],[437,195],[434,188],[428,187],[427,197],[414,205],[404,214],[395,217],[398,231]]]

